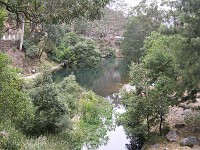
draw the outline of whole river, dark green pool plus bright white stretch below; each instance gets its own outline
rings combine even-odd
[[[122,58],[102,59],[99,67],[96,69],[78,69],[76,71],[62,69],[53,75],[53,80],[56,82],[62,81],[69,74],[74,74],[81,86],[93,90],[96,94],[112,102],[115,106],[114,111],[124,111],[116,94],[124,84],[128,83],[128,65]],[[107,145],[102,145],[97,150],[127,149],[126,144],[129,143],[129,139],[126,138],[122,126],[116,127],[108,135],[109,141]],[[83,150],[86,150],[86,148],[83,148]]]

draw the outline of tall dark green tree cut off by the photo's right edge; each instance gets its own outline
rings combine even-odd
[[[188,99],[195,100],[196,94],[200,91],[200,1],[188,0],[179,1],[177,9],[181,26],[180,33],[187,39],[187,45],[180,51],[179,64],[183,71],[182,86],[188,91]],[[181,58],[181,59],[180,59]],[[184,91],[183,91],[184,92]]]

